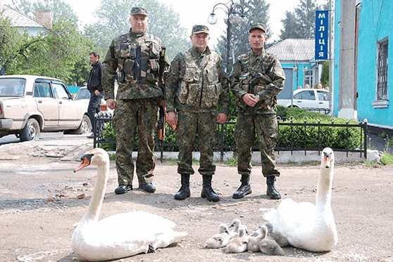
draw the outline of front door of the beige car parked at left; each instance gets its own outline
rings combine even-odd
[[[58,101],[58,126],[65,128],[77,128],[81,118],[78,116],[78,108],[68,93],[67,88],[61,82],[52,81],[52,89]]]

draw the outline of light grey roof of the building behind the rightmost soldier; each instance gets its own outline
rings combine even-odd
[[[285,39],[266,49],[282,61],[310,61],[315,54],[314,39]]]

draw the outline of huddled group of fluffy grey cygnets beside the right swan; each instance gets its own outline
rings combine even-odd
[[[266,223],[249,233],[247,226],[236,218],[230,225],[221,223],[218,233],[206,240],[208,249],[220,249],[227,253],[242,253],[244,251],[262,252],[270,256],[285,256],[282,247],[289,245],[285,237],[273,232],[273,225]]]

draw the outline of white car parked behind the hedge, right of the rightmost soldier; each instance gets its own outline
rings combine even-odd
[[[307,110],[325,110],[330,112],[330,92],[325,89],[297,89],[292,99],[278,99],[283,107],[299,107]]]

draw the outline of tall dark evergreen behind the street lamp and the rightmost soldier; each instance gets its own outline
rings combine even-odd
[[[229,65],[228,72],[232,69],[232,64],[238,55],[250,51],[249,45],[249,27],[256,22],[261,22],[268,26],[268,12],[270,4],[265,0],[240,0],[239,4],[244,8],[244,15],[249,19],[245,27],[240,25],[230,25],[230,58],[227,58],[227,35],[223,32],[223,36],[218,39],[216,50],[223,58],[224,65]],[[227,23],[227,17],[224,18]],[[268,30],[269,31],[269,30]],[[268,35],[270,35],[268,33]]]

